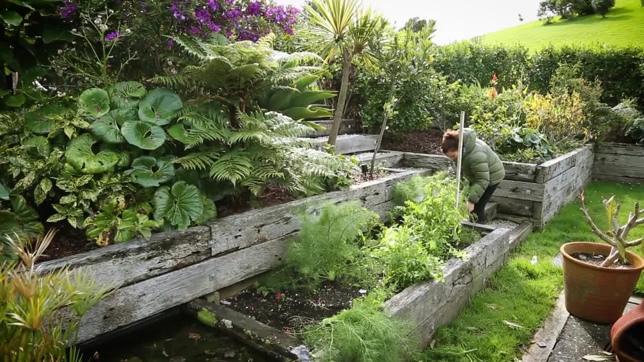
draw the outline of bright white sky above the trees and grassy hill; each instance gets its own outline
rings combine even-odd
[[[540,0],[362,0],[397,26],[410,17],[437,21],[434,42],[449,44],[537,19]],[[302,7],[304,0],[276,0]]]

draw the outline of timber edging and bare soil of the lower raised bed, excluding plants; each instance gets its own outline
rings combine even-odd
[[[455,318],[458,311],[466,305],[469,296],[482,289],[486,278],[497,271],[508,252],[531,231],[529,223],[519,225],[512,231],[481,225],[473,227],[486,232],[486,236],[464,250],[466,260],[452,258],[444,265],[444,281],[421,281],[395,294],[384,305],[389,316],[405,319],[413,324],[422,338],[422,345],[427,345],[437,327]],[[355,296],[368,292],[361,291],[358,287],[345,289],[322,285],[317,292],[290,291],[289,294],[292,295],[267,296],[260,303],[266,307],[263,310],[246,308],[249,304],[257,304],[253,298],[262,298],[256,291],[242,292],[235,298],[224,301],[225,305],[240,303],[236,306],[226,307],[194,300],[189,303],[188,309],[194,313],[209,310],[218,317],[213,323],[214,327],[237,336],[250,337],[258,347],[268,348],[272,354],[289,360],[293,357],[290,355],[292,348],[301,345],[296,336],[290,333],[292,328],[328,318],[340,309],[349,307],[348,301]],[[342,292],[348,295],[336,299]],[[323,298],[320,297],[322,294],[325,294]],[[311,300],[316,297],[321,299]],[[329,305],[328,301],[331,300],[336,300],[337,304]],[[317,308],[311,307],[316,304]]]

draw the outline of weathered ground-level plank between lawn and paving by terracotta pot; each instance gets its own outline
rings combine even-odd
[[[544,326],[536,332],[533,338],[535,343],[530,346],[521,361],[547,362],[569,316],[570,313],[565,309],[564,292],[561,292],[552,314],[545,319]]]

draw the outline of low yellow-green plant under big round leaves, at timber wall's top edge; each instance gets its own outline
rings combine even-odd
[[[147,209],[151,211],[151,207]],[[149,240],[152,229],[162,225],[163,222],[149,220],[147,214],[131,207],[126,209],[124,202],[115,199],[103,205],[99,213],[86,218],[82,227],[86,229],[88,238],[95,240],[99,246],[105,246],[129,242],[138,235]]]

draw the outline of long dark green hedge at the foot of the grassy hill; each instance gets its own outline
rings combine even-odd
[[[560,63],[582,66],[587,79],[600,79],[603,101],[615,105],[623,97],[644,104],[644,47],[642,46],[549,46],[530,53],[523,46],[464,42],[437,48],[435,70],[449,81],[480,82],[489,86],[493,73],[498,85],[509,87],[523,81],[529,89],[547,91]]]

